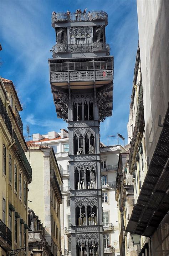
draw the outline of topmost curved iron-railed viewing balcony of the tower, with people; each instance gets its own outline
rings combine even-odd
[[[55,28],[55,22],[84,22],[103,20],[105,25],[108,24],[108,15],[105,11],[91,11],[91,13],[70,13],[57,12],[52,15],[52,27]]]

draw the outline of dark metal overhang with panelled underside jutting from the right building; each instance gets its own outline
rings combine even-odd
[[[126,231],[150,237],[169,210],[169,107]]]

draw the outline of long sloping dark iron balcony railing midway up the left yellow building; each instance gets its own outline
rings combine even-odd
[[[29,161],[26,158],[25,152],[23,150],[23,148],[21,147],[21,144],[19,142],[19,139],[16,136],[16,133],[13,130],[13,138],[15,139],[15,143],[14,143],[14,147],[16,147],[16,153],[19,156],[19,158],[21,159],[24,168],[27,171],[27,174],[29,175],[30,179],[32,179],[32,168],[30,166]]]

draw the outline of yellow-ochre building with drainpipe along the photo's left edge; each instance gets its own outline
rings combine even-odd
[[[12,81],[0,79],[0,256],[28,255],[27,191],[32,169],[18,111],[22,106]]]

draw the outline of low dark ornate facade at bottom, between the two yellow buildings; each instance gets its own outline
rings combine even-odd
[[[39,217],[32,209],[28,209],[28,223],[29,223],[29,255],[33,253],[36,256],[53,256],[51,246],[45,239],[45,228]]]

